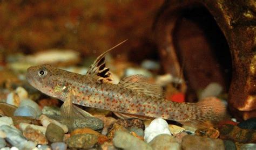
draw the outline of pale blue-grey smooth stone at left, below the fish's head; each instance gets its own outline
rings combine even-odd
[[[26,117],[37,117],[37,112],[31,106],[21,106],[15,112],[14,116],[26,116]]]

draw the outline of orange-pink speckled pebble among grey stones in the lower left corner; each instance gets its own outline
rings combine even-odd
[[[45,135],[41,131],[35,130],[30,126],[25,128],[23,135],[26,139],[31,140],[36,144],[48,144],[48,140],[46,139]]]

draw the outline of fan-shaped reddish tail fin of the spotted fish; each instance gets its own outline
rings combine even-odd
[[[197,103],[190,103],[194,115],[183,124],[200,127],[214,127],[222,120],[230,119],[226,105],[220,99],[208,97]]]

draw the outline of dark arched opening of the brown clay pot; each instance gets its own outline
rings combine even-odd
[[[226,38],[204,6],[177,12],[171,32],[174,51],[187,85],[187,99],[195,101],[196,92],[217,82],[227,93],[232,78],[232,59]]]

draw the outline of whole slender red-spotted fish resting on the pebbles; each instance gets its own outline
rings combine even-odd
[[[112,84],[105,55],[120,44],[99,55],[85,75],[46,64],[29,67],[26,78],[32,87],[63,101],[63,115],[69,118],[79,113],[73,104],[131,118],[174,120],[194,127],[215,126],[227,118],[226,106],[220,99],[208,97],[197,103],[167,101],[160,85],[143,75],[124,77],[118,84]]]

